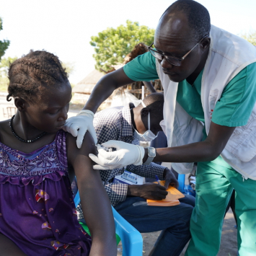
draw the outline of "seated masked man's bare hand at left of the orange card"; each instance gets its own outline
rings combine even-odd
[[[154,183],[146,183],[144,185],[128,185],[127,195],[138,196],[140,198],[151,200],[162,200],[166,198],[168,192],[166,188]]]

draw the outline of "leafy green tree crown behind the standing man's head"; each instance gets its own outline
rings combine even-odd
[[[93,55],[96,61],[95,68],[108,71],[111,65],[123,63],[123,58],[138,43],[151,45],[154,41],[154,29],[127,20],[126,26],[120,25],[116,29],[108,27],[91,39],[90,44],[96,52]]]

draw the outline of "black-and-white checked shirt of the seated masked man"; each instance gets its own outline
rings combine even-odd
[[[138,139],[133,137],[133,127],[131,124],[130,112],[130,109],[133,107],[133,103],[130,103],[125,107],[111,107],[95,114],[93,124],[97,133],[98,144],[102,144],[103,142],[110,140],[124,141],[126,143],[136,145],[139,144]],[[133,172],[142,177],[155,178],[155,175],[157,175],[159,180],[164,180],[163,174],[165,168],[166,167],[162,167],[161,165],[155,163],[151,163],[147,166],[135,166],[131,164],[126,167],[129,172]],[[125,168],[123,167],[100,171],[102,183],[105,186],[112,206],[116,206],[126,198],[128,185],[112,183],[114,177],[116,175],[123,174],[124,170]],[[79,219],[84,218],[80,204],[77,208],[77,213]]]

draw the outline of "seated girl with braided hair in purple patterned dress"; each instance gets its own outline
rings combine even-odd
[[[61,130],[71,85],[58,57],[31,50],[14,61],[8,91],[17,114],[0,122],[0,255],[116,255],[110,201],[88,156],[94,141],[87,133],[77,149]],[[76,218],[74,175],[92,237]]]

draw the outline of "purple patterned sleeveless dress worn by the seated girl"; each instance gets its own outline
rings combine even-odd
[[[0,233],[28,256],[89,255],[92,240],[76,218],[62,130],[30,154],[0,142]]]

